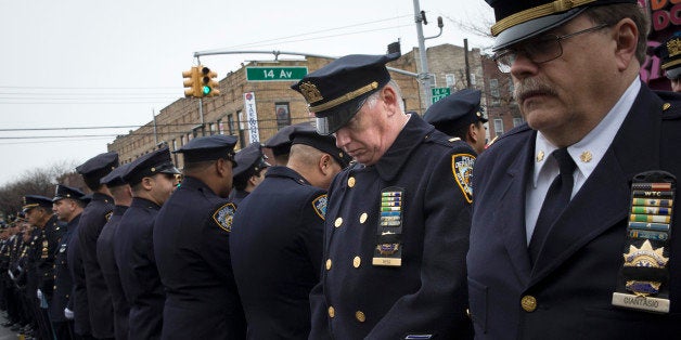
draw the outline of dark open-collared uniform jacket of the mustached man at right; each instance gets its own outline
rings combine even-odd
[[[477,160],[467,258],[477,339],[679,337],[681,237],[676,227],[681,211],[676,202],[670,313],[612,305],[627,252],[632,178],[665,170],[681,179],[680,97],[671,100],[642,84],[611,147],[549,232],[534,267],[525,236],[525,192],[537,132],[527,126],[511,130]],[[534,303],[524,309],[522,301]]]

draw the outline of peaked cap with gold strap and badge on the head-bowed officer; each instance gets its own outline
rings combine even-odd
[[[390,74],[385,64],[399,56],[346,55],[308,74],[291,88],[307,101],[317,117],[317,131],[331,134],[359,112],[367,97],[388,83]]]

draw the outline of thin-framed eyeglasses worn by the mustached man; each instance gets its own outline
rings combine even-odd
[[[505,49],[494,54],[492,60],[497,63],[499,70],[507,74],[511,66],[515,63],[518,53],[523,53],[530,62],[535,64],[548,63],[563,55],[563,45],[561,40],[573,38],[581,34],[588,34],[608,27],[609,24],[602,24],[583,30],[579,30],[565,36],[543,35],[537,39],[531,39],[516,48]]]

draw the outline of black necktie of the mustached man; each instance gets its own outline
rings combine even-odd
[[[575,184],[573,172],[575,172],[577,165],[575,165],[573,157],[570,157],[567,153],[567,147],[554,151],[551,156],[558,161],[561,173],[555,176],[551,186],[549,186],[547,197],[544,198],[544,202],[541,205],[541,210],[539,211],[539,217],[537,218],[537,224],[535,224],[535,232],[532,232],[532,237],[529,241],[529,256],[532,264],[537,260],[539,250],[541,249],[553,222],[555,222],[558,215],[569,204],[570,196],[573,194],[573,186]]]

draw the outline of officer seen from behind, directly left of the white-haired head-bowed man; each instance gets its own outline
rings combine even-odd
[[[333,136],[298,126],[288,165],[272,167],[232,225],[234,277],[248,339],[307,339],[309,293],[319,283],[326,189],[350,157]]]

